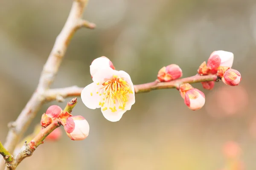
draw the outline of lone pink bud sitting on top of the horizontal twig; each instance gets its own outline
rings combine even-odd
[[[182,77],[182,70],[176,64],[171,64],[158,71],[157,78],[161,82],[169,82]]]

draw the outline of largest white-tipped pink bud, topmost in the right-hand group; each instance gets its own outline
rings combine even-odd
[[[207,67],[211,74],[216,74],[219,66],[231,68],[233,65],[234,54],[228,51],[213,51],[207,61]]]

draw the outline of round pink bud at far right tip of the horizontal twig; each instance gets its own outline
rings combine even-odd
[[[239,85],[242,77],[239,71],[230,68],[224,72],[223,77],[221,79],[226,85],[235,86]]]

